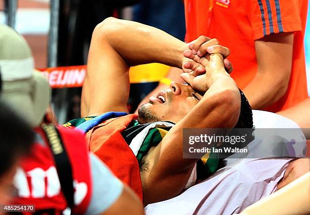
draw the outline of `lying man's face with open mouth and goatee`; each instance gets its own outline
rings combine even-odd
[[[189,85],[172,82],[170,88],[162,90],[156,97],[138,110],[140,124],[158,121],[179,122],[202,98]]]

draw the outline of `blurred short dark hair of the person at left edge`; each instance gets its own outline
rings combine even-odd
[[[31,127],[0,100],[0,176],[3,176],[19,156],[30,151],[34,142]]]

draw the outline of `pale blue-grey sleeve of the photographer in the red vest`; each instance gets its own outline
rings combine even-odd
[[[91,153],[90,158],[93,190],[85,214],[101,214],[120,198],[124,185],[96,155]]]

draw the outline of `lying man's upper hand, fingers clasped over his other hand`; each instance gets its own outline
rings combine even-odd
[[[225,70],[231,73],[231,63],[226,59],[230,54],[229,49],[219,45],[217,39],[210,39],[206,36],[200,36],[196,40],[188,43],[188,49],[183,52],[183,71],[187,73],[194,71],[194,76],[204,74],[206,72],[205,67],[209,62],[209,56],[212,53],[221,53],[225,59]]]

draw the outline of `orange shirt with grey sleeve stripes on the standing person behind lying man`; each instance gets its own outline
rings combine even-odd
[[[273,33],[294,32],[287,92],[264,110],[285,110],[308,97],[303,44],[307,0],[185,0],[184,3],[186,41],[205,35],[228,47],[229,60],[234,65],[231,77],[241,89],[257,73],[255,40]]]

